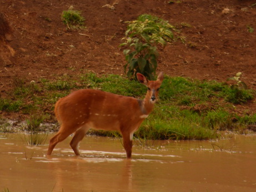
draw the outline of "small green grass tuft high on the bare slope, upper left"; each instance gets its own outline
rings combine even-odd
[[[62,21],[69,29],[83,29],[84,17],[81,12],[76,10],[68,10],[62,12]]]

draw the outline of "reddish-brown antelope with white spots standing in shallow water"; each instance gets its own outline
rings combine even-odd
[[[50,139],[47,155],[72,133],[71,148],[80,155],[79,143],[92,128],[121,132],[127,158],[131,158],[133,133],[152,112],[163,78],[162,72],[157,80],[148,80],[137,73],[138,81],[148,87],[143,100],[94,89],[80,89],[59,99],[54,113],[61,126]]]

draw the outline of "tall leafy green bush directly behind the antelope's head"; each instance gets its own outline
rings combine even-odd
[[[175,28],[167,21],[149,14],[140,15],[137,20],[127,22],[125,41],[120,46],[126,46],[123,53],[126,56],[124,70],[131,77],[142,73],[148,79],[153,79],[157,69],[157,46],[165,47],[174,38]]]

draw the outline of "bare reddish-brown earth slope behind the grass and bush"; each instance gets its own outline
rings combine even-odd
[[[182,0],[10,0],[0,1],[13,29],[0,43],[0,94],[13,77],[57,78],[81,70],[123,74],[119,44],[125,21],[153,14],[177,26],[185,43],[171,42],[159,51],[158,71],[172,76],[225,82],[237,72],[256,89],[256,6],[254,1]],[[109,4],[111,6],[105,6]],[[82,11],[86,30],[69,31],[61,13],[69,6]],[[190,27],[188,27],[190,25]],[[254,103],[250,103],[254,105]]]

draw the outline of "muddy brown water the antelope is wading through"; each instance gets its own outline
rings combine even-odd
[[[80,157],[69,137],[47,158],[48,140],[28,146],[21,135],[0,134],[0,191],[256,191],[255,135],[134,142],[132,160],[119,139],[102,137],[84,138]]]

